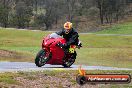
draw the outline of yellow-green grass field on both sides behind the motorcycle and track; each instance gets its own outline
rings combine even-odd
[[[0,29],[0,49],[22,53],[28,59],[23,58],[20,61],[34,62],[37,52],[41,49],[43,36],[49,33]],[[132,67],[132,36],[80,34],[80,40],[83,47],[77,49],[75,64]],[[8,58],[8,61],[13,59]]]

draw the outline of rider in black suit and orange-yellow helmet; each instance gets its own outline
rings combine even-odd
[[[64,28],[61,31],[56,32],[58,35],[63,36],[66,40],[66,44],[58,43],[58,46],[68,49],[70,45],[78,45],[78,32],[72,27],[71,22],[64,23]]]

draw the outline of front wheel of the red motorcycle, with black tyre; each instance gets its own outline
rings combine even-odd
[[[46,62],[48,61],[48,57],[46,57],[46,51],[40,50],[35,58],[35,64],[38,67],[44,66]]]

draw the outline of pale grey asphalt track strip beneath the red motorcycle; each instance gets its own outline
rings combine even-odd
[[[29,62],[0,62],[0,72],[19,72],[19,71],[44,71],[44,70],[78,70],[79,65],[72,65],[70,68],[63,68],[61,65],[46,64],[37,67],[34,63]],[[130,68],[117,68],[106,66],[86,66],[82,65],[85,70],[132,70]]]

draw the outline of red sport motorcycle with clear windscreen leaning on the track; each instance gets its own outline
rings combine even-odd
[[[43,38],[42,50],[40,50],[35,58],[35,64],[38,67],[45,64],[51,65],[63,65],[64,67],[70,67],[76,59],[75,48],[81,47],[81,42],[78,45],[70,45],[69,49],[63,49],[57,44],[65,44],[66,40],[56,33],[49,34]]]

